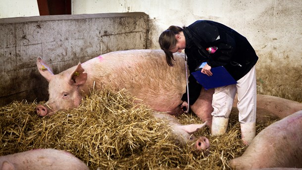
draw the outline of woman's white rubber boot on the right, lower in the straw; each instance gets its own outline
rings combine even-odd
[[[241,139],[246,145],[250,145],[256,135],[256,123],[240,124]]]

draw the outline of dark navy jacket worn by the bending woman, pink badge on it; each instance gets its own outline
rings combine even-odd
[[[237,81],[244,77],[256,64],[258,56],[248,40],[233,29],[207,20],[199,20],[184,28],[186,38],[185,53],[188,57],[190,104],[194,104],[200,95],[201,85],[191,75],[201,62],[207,62],[212,68],[224,66]],[[213,54],[204,54],[195,41],[186,33],[189,31],[194,39],[205,49],[216,46]],[[203,50],[204,51],[204,50]],[[183,101],[188,101],[187,92],[183,94]]]

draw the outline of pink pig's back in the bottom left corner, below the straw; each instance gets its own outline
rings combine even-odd
[[[0,157],[0,170],[89,170],[69,152],[35,149]]]

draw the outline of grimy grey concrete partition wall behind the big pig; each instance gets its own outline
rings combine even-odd
[[[107,13],[0,19],[0,105],[48,98],[37,57],[55,74],[102,53],[148,48],[145,13]]]

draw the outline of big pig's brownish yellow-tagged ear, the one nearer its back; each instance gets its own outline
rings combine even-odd
[[[77,68],[71,73],[69,76],[69,84],[70,85],[83,85],[87,81],[87,73],[83,73],[85,70],[83,69],[81,63],[78,64]]]

